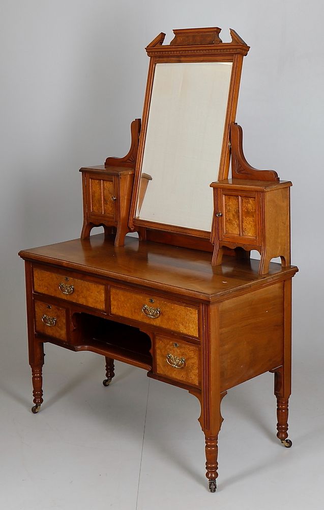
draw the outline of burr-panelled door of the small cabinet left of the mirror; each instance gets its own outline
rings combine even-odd
[[[113,177],[87,176],[89,187],[89,214],[115,220],[115,185]]]

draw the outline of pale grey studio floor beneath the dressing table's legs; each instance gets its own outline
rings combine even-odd
[[[0,508],[6,510],[321,510],[321,364],[294,367],[290,449],[276,439],[273,375],[223,399],[216,494],[204,476],[198,400],[116,363],[46,345],[44,404],[31,408],[25,359],[0,376]],[[305,384],[305,382],[307,384]]]

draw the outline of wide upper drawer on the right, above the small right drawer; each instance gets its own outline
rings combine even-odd
[[[198,310],[152,294],[142,294],[111,287],[112,315],[127,317],[153,326],[164,327],[184,335],[198,337]]]

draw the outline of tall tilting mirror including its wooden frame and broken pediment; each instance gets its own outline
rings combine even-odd
[[[178,235],[175,243],[179,234],[210,240],[210,184],[228,175],[229,126],[249,50],[233,30],[223,43],[220,30],[174,30],[169,45],[161,33],[145,48],[150,66],[129,223],[144,239],[163,230]]]

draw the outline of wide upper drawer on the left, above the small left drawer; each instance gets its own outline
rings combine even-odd
[[[34,268],[34,291],[105,310],[105,286]]]

